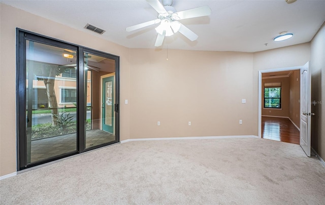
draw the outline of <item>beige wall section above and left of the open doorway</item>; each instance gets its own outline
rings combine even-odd
[[[254,53],[253,134],[258,135],[258,71],[305,65],[310,59],[310,43]]]

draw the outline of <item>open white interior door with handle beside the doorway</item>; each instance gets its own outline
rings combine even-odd
[[[300,146],[310,156],[311,73],[309,62],[300,69]]]

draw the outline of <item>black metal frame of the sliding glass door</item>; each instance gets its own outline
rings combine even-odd
[[[26,40],[56,46],[64,49],[70,49],[77,52],[77,147],[75,152],[58,155],[41,161],[27,164],[27,140],[26,140]],[[115,141],[93,146],[85,149],[86,133],[86,104],[85,104],[85,87],[84,87],[84,52],[94,54],[115,60]],[[111,145],[120,142],[119,137],[119,56],[108,54],[85,48],[79,45],[63,42],[62,40],[23,30],[16,29],[16,121],[17,121],[17,171],[30,167],[35,167],[43,163],[54,161],[60,158],[68,157],[99,147]]]

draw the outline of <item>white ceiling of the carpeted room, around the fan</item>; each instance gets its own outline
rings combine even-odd
[[[128,48],[155,48],[155,27],[133,32],[125,28],[157,18],[145,0],[111,1],[3,1],[2,3],[110,40]],[[180,33],[165,38],[162,48],[257,52],[310,42],[325,21],[325,0],[199,1],[174,0],[177,11],[208,5],[211,16],[180,20],[199,35],[191,42]],[[106,32],[86,30],[90,23]],[[282,31],[294,33],[283,42],[273,38]],[[265,46],[265,44],[268,44]]]

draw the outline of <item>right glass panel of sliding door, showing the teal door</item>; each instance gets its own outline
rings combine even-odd
[[[115,60],[84,53],[85,148],[116,142]]]

